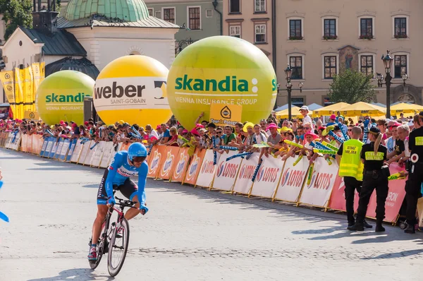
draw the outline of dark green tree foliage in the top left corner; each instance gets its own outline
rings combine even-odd
[[[18,26],[32,27],[31,0],[0,0],[0,13],[3,14],[2,20],[6,23],[5,40],[8,40]]]

